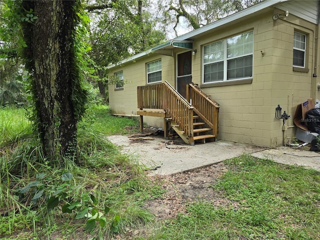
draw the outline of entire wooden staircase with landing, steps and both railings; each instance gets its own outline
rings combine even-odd
[[[138,86],[141,132],[144,115],[158,116],[163,117],[165,138],[171,127],[187,144],[216,140],[219,104],[193,83],[186,90],[192,105],[166,81]]]

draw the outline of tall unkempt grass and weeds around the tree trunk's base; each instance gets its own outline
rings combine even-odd
[[[1,135],[3,145],[0,146],[1,236],[14,233],[16,239],[52,239],[53,236],[58,239],[104,239],[112,237],[114,231],[124,232],[128,227],[153,219],[136,200],[141,194],[147,194],[149,188],[142,168],[133,157],[120,154],[117,147],[106,139],[106,128],[101,128],[105,125],[100,123],[103,122],[101,118],[109,119],[112,125],[119,120],[111,116],[107,108],[91,109],[91,114],[79,124],[78,148],[74,157],[80,164],[66,160],[62,168],[45,159],[40,142],[31,135],[29,122],[21,114],[21,109],[3,110],[6,113],[1,114],[4,129]],[[121,118],[121,122],[118,128],[113,127],[108,132],[119,131],[123,126],[132,129],[137,124],[126,118]],[[29,137],[19,137],[26,132]],[[5,144],[8,141],[10,144]],[[65,180],[65,176],[72,177]],[[49,199],[54,197],[59,204],[48,209]],[[78,201],[78,207],[73,213],[61,211],[63,204],[74,201]],[[106,207],[110,210],[103,213]],[[87,212],[98,210],[106,225],[100,227],[96,223],[93,230],[83,234],[88,218],[82,216],[81,209]],[[79,214],[81,217],[75,217]],[[120,221],[115,224],[117,215]]]

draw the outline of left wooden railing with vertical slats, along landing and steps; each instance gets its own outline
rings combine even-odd
[[[167,81],[137,87],[138,108],[163,109],[166,115],[193,136],[193,107]]]

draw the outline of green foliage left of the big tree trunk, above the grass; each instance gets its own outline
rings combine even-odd
[[[25,92],[26,73],[18,57],[19,49],[26,46],[18,34],[21,31],[19,21],[22,14],[28,13],[19,8],[18,2],[0,2],[0,106],[25,106],[28,97]],[[28,17],[33,19],[35,16]]]

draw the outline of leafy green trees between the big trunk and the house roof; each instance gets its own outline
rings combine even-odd
[[[90,1],[88,1],[91,3]],[[139,8],[139,3],[142,8]],[[115,79],[108,77],[105,66],[135,53],[149,49],[165,39],[162,31],[156,30],[148,1],[121,0],[95,1],[87,6],[91,19],[88,52],[90,65],[95,69],[88,80],[97,87],[107,102],[108,85]]]

